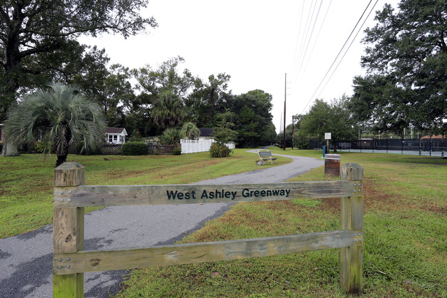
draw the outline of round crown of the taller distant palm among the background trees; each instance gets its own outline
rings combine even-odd
[[[153,105],[152,117],[163,129],[179,125],[184,117],[182,100],[173,92],[163,92]]]

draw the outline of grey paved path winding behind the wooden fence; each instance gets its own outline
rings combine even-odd
[[[256,151],[252,151],[256,152]],[[282,156],[282,155],[281,155]],[[323,165],[316,158],[197,184],[283,182]],[[107,207],[85,215],[85,250],[173,244],[221,216],[232,204]],[[0,297],[52,297],[52,225],[0,240]],[[85,273],[85,297],[109,298],[127,270]]]

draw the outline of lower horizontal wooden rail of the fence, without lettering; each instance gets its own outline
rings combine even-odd
[[[354,241],[354,234],[357,233],[360,231],[330,231],[248,240],[67,253],[54,255],[53,274],[197,264],[360,246],[360,242]],[[61,261],[58,261],[59,259]]]

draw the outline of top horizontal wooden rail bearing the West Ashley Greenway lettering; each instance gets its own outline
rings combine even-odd
[[[56,187],[54,206],[63,208],[340,198],[360,195],[358,189],[361,187],[361,185],[354,187],[353,182],[348,181],[217,185],[87,185]]]

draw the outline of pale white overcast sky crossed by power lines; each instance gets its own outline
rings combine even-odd
[[[292,123],[292,115],[306,113],[315,98],[329,101],[343,94],[352,94],[353,77],[364,74],[360,67],[365,47],[360,43],[363,30],[375,24],[375,11],[382,10],[384,3],[391,3],[393,8],[397,8],[397,0],[378,1],[329,83],[327,79],[358,28],[320,88],[318,85],[369,2],[152,0],[141,14],[154,17],[159,25],[157,28],[128,39],[105,35],[96,39],[83,37],[80,42],[105,47],[111,63],[126,67],[138,68],[149,64],[157,68],[168,58],[182,56],[184,67],[204,80],[210,74],[230,74],[228,89],[233,94],[253,89],[272,94],[273,123],[279,131],[284,111],[286,73],[286,125]],[[374,3],[375,0],[359,25]],[[308,21],[312,12],[312,21]]]

